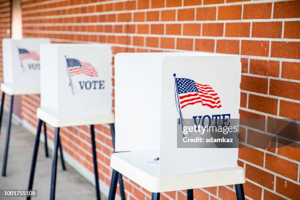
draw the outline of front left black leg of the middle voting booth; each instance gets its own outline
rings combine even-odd
[[[33,179],[34,179],[34,172],[35,172],[35,165],[36,165],[36,159],[38,155],[39,150],[39,144],[40,144],[40,135],[41,135],[41,129],[42,129],[43,121],[39,119],[38,127],[35,135],[35,142],[34,142],[34,149],[33,149],[33,156],[31,161],[31,169],[30,169],[30,175],[29,175],[29,183],[28,183],[28,190],[32,190],[33,186]],[[26,200],[30,200],[31,196],[28,196]]]

